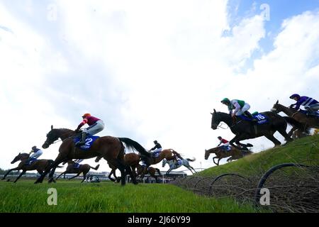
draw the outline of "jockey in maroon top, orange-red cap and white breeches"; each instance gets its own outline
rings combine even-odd
[[[103,121],[99,118],[91,116],[91,114],[84,114],[82,118],[83,118],[83,121],[79,124],[79,126],[77,126],[77,129],[75,130],[75,132],[78,133],[79,129],[82,126],[84,126],[86,123],[89,125],[89,127],[84,128],[84,130],[82,131],[82,137],[81,137],[81,140],[77,142],[76,144],[77,146],[84,145],[86,134],[94,135],[96,133],[101,132],[104,128]]]

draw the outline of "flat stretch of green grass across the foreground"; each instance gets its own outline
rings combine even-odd
[[[57,206],[49,206],[47,189],[57,189]],[[0,212],[257,212],[250,204],[233,199],[213,199],[170,184],[16,184],[0,182]]]

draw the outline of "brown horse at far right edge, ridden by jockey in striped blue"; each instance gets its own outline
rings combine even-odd
[[[319,118],[317,116],[307,116],[301,111],[296,111],[296,109],[288,108],[279,104],[278,100],[276,101],[274,106],[272,106],[271,110],[274,111],[276,114],[282,111],[284,112],[284,114],[290,117],[286,118],[286,121],[291,124],[291,126],[293,126],[293,128],[291,128],[291,131],[288,133],[289,136],[293,135],[293,132],[297,129],[298,134],[300,135],[303,132],[309,133],[308,128],[319,128]]]

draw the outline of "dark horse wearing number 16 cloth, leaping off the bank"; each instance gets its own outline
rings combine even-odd
[[[284,136],[287,143],[293,140],[286,133],[287,122],[284,117],[280,116],[279,114],[275,114],[272,111],[263,112],[261,114],[268,118],[268,122],[257,124],[251,121],[244,121],[241,118],[232,118],[230,114],[216,112],[214,109],[214,112],[211,113],[211,128],[216,130],[220,122],[225,122],[230,128],[230,131],[235,134],[235,137],[229,142],[230,145],[237,149],[243,150],[248,150],[247,147],[252,147],[252,145],[240,143],[241,140],[257,138],[263,135],[267,139],[271,140],[274,145],[281,145],[280,141],[274,138],[274,133],[276,131]],[[235,145],[234,142],[242,146],[242,148]]]

